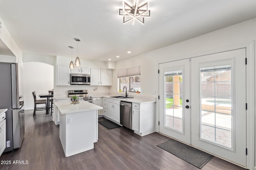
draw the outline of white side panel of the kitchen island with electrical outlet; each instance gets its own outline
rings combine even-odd
[[[97,110],[64,114],[66,116],[66,156],[94,149],[97,142]],[[72,119],[68,124],[68,119]]]

